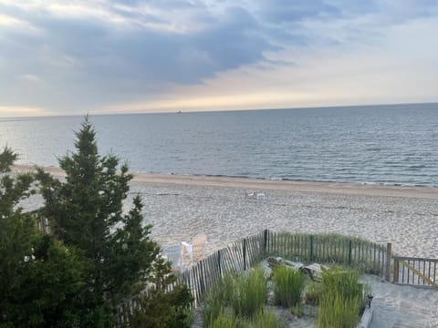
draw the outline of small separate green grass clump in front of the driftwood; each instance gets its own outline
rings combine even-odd
[[[300,302],[305,282],[301,272],[280,265],[274,272],[273,281],[276,304],[290,307]]]

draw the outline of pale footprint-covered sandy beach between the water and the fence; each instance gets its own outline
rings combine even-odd
[[[31,169],[17,166],[15,171]],[[56,168],[47,168],[62,177]],[[248,199],[245,190],[263,192]],[[162,246],[208,235],[207,253],[264,229],[336,232],[392,242],[395,253],[438,258],[438,189],[135,173],[145,223]],[[38,199],[27,203],[40,205]],[[126,209],[130,207],[130,201]],[[438,292],[370,277],[376,306],[371,327],[437,327]]]

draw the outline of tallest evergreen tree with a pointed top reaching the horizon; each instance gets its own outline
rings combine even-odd
[[[45,199],[43,215],[57,238],[83,251],[91,266],[90,307],[110,317],[115,306],[144,288],[152,262],[160,251],[151,241],[150,226],[142,226],[141,200],[123,214],[128,167],[113,156],[101,157],[96,132],[86,117],[76,133],[76,152],[59,159],[66,180],[53,179],[41,169],[38,178]],[[93,310],[94,311],[94,310]],[[93,324],[102,323],[94,318]]]

